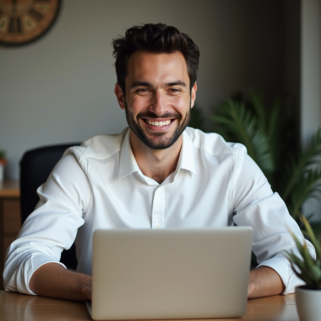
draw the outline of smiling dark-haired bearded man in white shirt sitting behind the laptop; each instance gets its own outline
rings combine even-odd
[[[287,294],[302,282],[285,249],[303,235],[243,145],[187,127],[196,97],[199,50],[164,24],[135,26],[113,41],[115,94],[129,128],[68,149],[39,204],[9,247],[7,291],[91,298],[92,234],[115,228],[250,225],[260,265],[248,297]],[[77,272],[59,263],[74,242]],[[315,253],[308,243],[311,253]],[[237,266],[237,262],[235,263]]]

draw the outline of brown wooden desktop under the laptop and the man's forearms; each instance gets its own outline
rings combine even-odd
[[[245,317],[222,321],[299,321],[294,293],[247,301]],[[233,304],[233,302],[231,302]],[[91,320],[84,303],[0,291],[0,320]],[[204,319],[202,319],[204,320]]]

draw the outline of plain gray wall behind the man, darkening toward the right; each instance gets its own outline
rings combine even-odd
[[[6,178],[18,178],[18,161],[27,149],[118,133],[126,126],[113,93],[110,42],[134,24],[163,22],[193,37],[201,51],[196,103],[205,112],[248,85],[261,87],[271,101],[291,87],[284,71],[285,4],[298,1],[65,0],[58,21],[39,41],[0,48]]]

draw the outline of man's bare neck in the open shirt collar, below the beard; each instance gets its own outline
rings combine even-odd
[[[156,150],[147,147],[130,129],[130,143],[138,167],[144,175],[161,182],[175,171],[182,148],[183,135],[169,148]]]

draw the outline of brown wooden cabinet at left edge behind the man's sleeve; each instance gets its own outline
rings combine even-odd
[[[21,229],[20,190],[18,182],[0,185],[0,290],[4,290],[2,271],[4,256]]]

